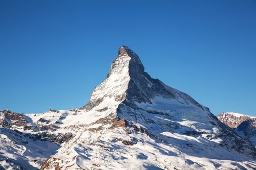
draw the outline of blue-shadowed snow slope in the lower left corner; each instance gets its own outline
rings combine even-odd
[[[59,148],[55,143],[34,141],[12,130],[0,128],[0,164],[7,169],[15,167],[14,162],[17,167],[21,165],[26,169],[37,169]]]

